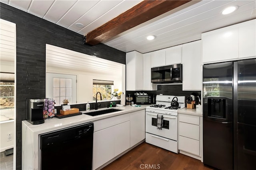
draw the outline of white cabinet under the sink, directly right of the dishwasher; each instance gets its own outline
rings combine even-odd
[[[94,122],[94,170],[129,148],[130,114]]]

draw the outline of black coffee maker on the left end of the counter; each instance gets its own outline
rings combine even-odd
[[[27,121],[33,125],[44,123],[44,99],[28,99],[27,103]]]

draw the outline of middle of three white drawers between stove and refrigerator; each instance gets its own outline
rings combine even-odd
[[[189,123],[179,123],[179,135],[199,140],[199,125]]]

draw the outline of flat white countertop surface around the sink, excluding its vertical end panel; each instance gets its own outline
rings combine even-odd
[[[26,125],[26,127],[28,127],[30,129],[30,131],[32,131],[33,133],[42,134],[42,133],[47,133],[50,131],[56,131],[59,129],[63,129],[66,127],[71,127],[71,126],[91,122],[91,121],[97,121],[97,120],[105,119],[108,117],[113,117],[113,116],[122,115],[125,113],[139,111],[142,109],[146,109],[146,106],[149,106],[149,105],[141,105],[141,107],[132,107],[132,106],[110,107],[110,108],[100,108],[98,110],[93,109],[90,111],[80,111],[82,113],[86,113],[86,112],[100,111],[100,110],[111,109],[111,108],[120,109],[120,111],[116,111],[113,113],[106,113],[106,114],[97,115],[97,116],[90,116],[90,115],[82,114],[82,115],[76,115],[76,116],[72,116],[72,117],[65,117],[62,119],[53,117],[52,119],[46,119],[44,121],[44,123],[42,123],[40,125],[32,125],[26,120],[22,121],[22,123],[24,123],[24,125]]]

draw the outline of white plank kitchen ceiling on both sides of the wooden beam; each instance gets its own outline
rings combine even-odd
[[[5,4],[86,35],[142,0],[0,0]],[[232,14],[220,12],[238,6]],[[147,53],[201,39],[201,33],[256,18],[256,0],[201,0],[138,25],[104,44],[124,52]],[[76,26],[82,23],[83,28]],[[153,41],[147,35],[155,35]]]

